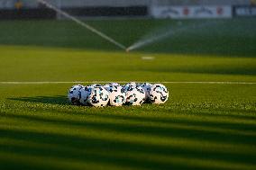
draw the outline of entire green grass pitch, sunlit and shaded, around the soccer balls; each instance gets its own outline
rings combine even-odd
[[[89,23],[128,46],[178,22],[207,21]],[[0,22],[0,169],[255,169],[255,27],[218,20],[125,53],[73,22]],[[74,81],[172,83],[165,104],[118,108],[21,83]]]

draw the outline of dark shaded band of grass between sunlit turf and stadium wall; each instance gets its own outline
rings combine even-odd
[[[165,31],[177,29],[187,31],[174,33],[165,40],[135,49],[146,53],[173,53],[209,55],[221,57],[256,56],[255,19],[233,19],[213,21],[202,29],[189,29],[189,25],[200,25],[208,20],[102,20],[86,21],[99,31],[128,47],[143,37],[157,37]],[[181,23],[181,24],[180,24]],[[15,21],[0,22],[0,44],[57,47],[68,49],[93,49],[123,51],[87,29],[69,21]],[[179,26],[178,26],[179,25]],[[26,29],[23,29],[26,28]],[[163,29],[165,28],[165,29]],[[197,27],[196,27],[197,28]],[[165,30],[161,32],[161,30]],[[178,30],[178,29],[177,29]],[[156,33],[157,32],[157,33]],[[145,39],[146,40],[146,39]]]

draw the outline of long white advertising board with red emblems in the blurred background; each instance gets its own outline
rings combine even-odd
[[[193,6],[152,6],[154,18],[194,19],[232,18],[232,6],[193,5]]]

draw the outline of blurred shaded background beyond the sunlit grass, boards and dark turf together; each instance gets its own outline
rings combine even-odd
[[[46,2],[87,22],[127,48],[229,56],[256,53],[253,45],[256,43],[255,0]],[[119,50],[37,0],[0,0],[0,21],[0,44],[3,45]]]

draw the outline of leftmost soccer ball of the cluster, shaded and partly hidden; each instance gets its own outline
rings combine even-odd
[[[79,100],[80,100],[80,90],[83,88],[83,85],[73,85],[70,89],[69,89],[69,94],[68,94],[68,98],[69,98],[69,102],[74,104],[74,105],[78,105]]]

